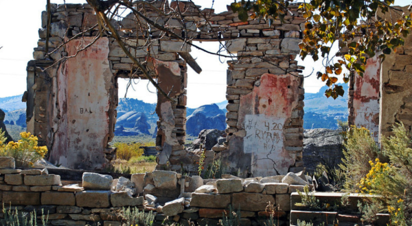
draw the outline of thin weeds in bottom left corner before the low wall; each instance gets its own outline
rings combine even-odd
[[[3,203],[4,218],[0,219],[0,225],[8,226],[37,226],[37,214],[36,210],[33,212],[19,212],[17,208],[7,210]],[[41,210],[41,226],[46,226],[49,220],[49,214],[44,214],[44,210]],[[40,224],[39,224],[40,226]]]

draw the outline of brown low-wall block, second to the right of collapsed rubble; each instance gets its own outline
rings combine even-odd
[[[234,193],[232,194],[232,206],[247,211],[263,211],[266,209],[268,202],[275,204],[275,198],[270,194],[260,193]]]

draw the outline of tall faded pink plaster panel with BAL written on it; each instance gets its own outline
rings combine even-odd
[[[76,54],[85,37],[67,43],[69,55]],[[69,168],[101,168],[105,163],[110,108],[109,90],[113,74],[108,64],[108,39],[69,58],[58,70],[60,121],[54,133],[50,160]]]

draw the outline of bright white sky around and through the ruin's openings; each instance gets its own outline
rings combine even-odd
[[[212,0],[194,0],[194,2],[210,8]],[[233,0],[215,0],[214,2],[216,12],[222,12]],[[63,3],[63,1],[52,0],[52,3]],[[66,3],[86,3],[86,0],[67,0]],[[396,1],[396,5],[409,4],[411,1]],[[21,0],[19,5],[23,6],[18,9],[18,12],[5,10],[15,9],[16,2],[0,0],[0,8],[3,9],[0,14],[0,47],[3,47],[0,49],[0,97],[21,95],[26,90],[25,68],[27,62],[33,58],[33,48],[37,46],[41,12],[45,10],[46,0]],[[218,49],[217,42],[203,42],[200,45],[209,50]],[[198,75],[191,69],[189,70],[187,106],[196,108],[200,105],[224,101],[226,99],[227,64],[220,60],[225,59],[192,50],[192,55],[197,58],[203,72]],[[312,71],[312,66],[315,71],[321,68],[320,64],[314,64],[310,58],[301,64],[307,67],[304,75]],[[304,86],[306,92],[317,92],[323,83],[313,75],[305,80]],[[156,94],[152,93],[155,88],[148,86],[147,80],[138,81],[133,88],[134,90],[128,91],[127,97],[141,99],[148,103],[156,102]],[[119,97],[124,97],[125,91],[126,81],[119,81]]]

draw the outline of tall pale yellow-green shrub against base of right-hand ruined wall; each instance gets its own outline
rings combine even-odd
[[[356,190],[356,184],[369,172],[369,160],[374,160],[379,148],[369,130],[352,126],[347,132],[347,140],[343,144],[342,164],[339,166],[345,172],[347,190]]]

